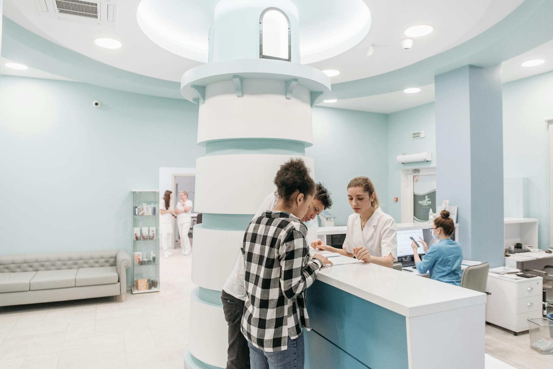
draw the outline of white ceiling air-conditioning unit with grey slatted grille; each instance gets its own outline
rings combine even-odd
[[[118,0],[35,0],[40,15],[115,27]]]

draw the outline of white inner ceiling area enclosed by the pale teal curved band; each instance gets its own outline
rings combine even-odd
[[[295,0],[295,3],[301,8],[302,3],[312,1],[315,0]],[[348,51],[312,64],[321,70],[340,70],[341,74],[332,78],[333,83],[393,71],[450,49],[503,19],[523,0],[363,1],[371,11],[372,18],[367,36]],[[202,23],[206,23],[210,16],[205,14],[211,11],[213,2],[214,0],[194,0],[186,3],[190,4],[191,14],[197,14],[203,19]],[[4,0],[4,14],[23,27],[46,35],[46,38],[55,43],[105,64],[149,77],[180,81],[185,71],[200,62],[173,54],[150,40],[137,22],[139,3],[139,0],[117,2],[116,27],[46,17],[38,11],[35,0]],[[178,11],[179,9],[175,9],[175,12]],[[312,13],[317,17],[304,17],[305,22],[311,19],[311,24],[319,22],[323,28],[354,19],[353,15],[348,18],[347,13],[339,13],[340,22],[336,23],[332,20],[336,12],[319,9]],[[405,38],[404,30],[416,24],[430,24],[435,30],[430,35],[416,38],[412,49],[401,49],[400,41]],[[210,25],[206,23],[205,28],[208,29]],[[207,31],[205,35],[207,36]],[[122,42],[123,47],[117,50],[102,49],[93,42],[98,37],[117,39]],[[374,45],[374,53],[367,57],[367,49],[371,44]]]

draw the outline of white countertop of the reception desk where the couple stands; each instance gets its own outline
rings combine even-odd
[[[324,268],[317,280],[405,317],[434,314],[486,303],[486,294],[428,278],[413,278],[375,264]]]

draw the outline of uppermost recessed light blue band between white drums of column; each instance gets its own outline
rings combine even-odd
[[[278,139],[228,139],[205,143],[206,156],[231,154],[273,154],[305,156],[303,141]]]

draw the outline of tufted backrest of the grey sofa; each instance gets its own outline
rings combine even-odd
[[[119,250],[0,256],[0,273],[115,266]]]

